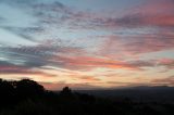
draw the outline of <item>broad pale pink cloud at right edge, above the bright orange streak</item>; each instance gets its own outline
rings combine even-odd
[[[105,36],[99,54],[108,58],[124,59],[142,53],[172,50],[174,35],[171,33],[140,34],[127,36]]]

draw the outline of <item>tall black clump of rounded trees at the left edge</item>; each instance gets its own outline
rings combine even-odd
[[[45,92],[42,86],[29,79],[20,81],[0,79],[0,107],[9,107],[26,99],[40,98]]]

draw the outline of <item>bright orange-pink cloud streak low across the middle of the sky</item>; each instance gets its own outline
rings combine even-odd
[[[55,56],[53,60],[61,62],[63,67],[70,67],[72,69],[97,67],[140,69],[141,67],[153,66],[153,63],[146,61],[124,62],[96,56]]]

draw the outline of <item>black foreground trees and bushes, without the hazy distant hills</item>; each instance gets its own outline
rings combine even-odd
[[[0,79],[0,115],[174,115],[173,104],[113,101],[73,92],[46,90],[34,80]]]

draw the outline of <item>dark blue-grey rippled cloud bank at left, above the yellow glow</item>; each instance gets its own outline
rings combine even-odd
[[[47,42],[47,41],[46,41]],[[37,46],[18,46],[18,47],[2,47],[0,52],[2,58],[11,62],[21,63],[28,68],[42,68],[44,66],[65,67],[64,62],[58,58],[59,54],[71,54],[80,52],[80,48],[64,47],[59,41],[49,41]],[[55,59],[58,58],[58,59]]]

